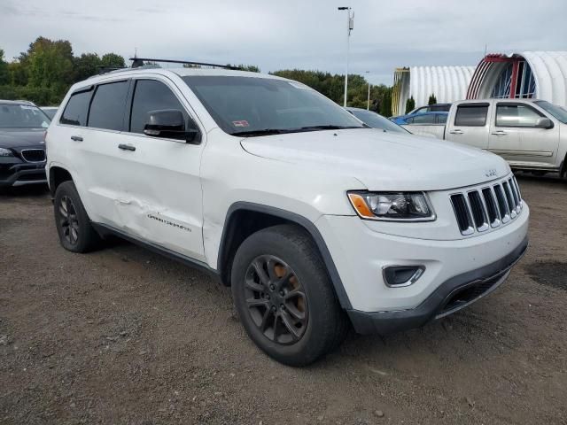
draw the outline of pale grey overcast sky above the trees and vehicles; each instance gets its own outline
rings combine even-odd
[[[477,65],[489,52],[567,50],[566,0],[0,0],[0,49],[12,60],[39,35],[74,54],[183,58],[344,73],[392,84],[396,66]]]

